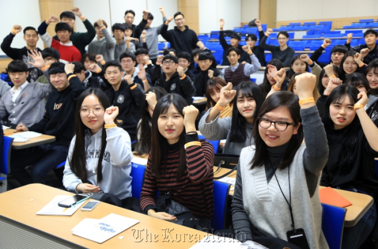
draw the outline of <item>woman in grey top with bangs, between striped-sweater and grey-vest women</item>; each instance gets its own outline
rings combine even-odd
[[[219,101],[201,118],[199,129],[206,139],[226,139],[224,154],[239,155],[242,148],[253,144],[251,133],[264,99],[255,82],[244,81],[236,91],[231,89],[230,82],[221,89]],[[219,119],[221,110],[232,100],[232,117]]]

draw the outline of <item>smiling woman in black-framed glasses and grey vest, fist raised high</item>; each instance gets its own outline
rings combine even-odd
[[[309,248],[327,249],[319,181],[328,146],[317,107],[310,99],[316,76],[303,73],[295,80],[300,104],[290,92],[269,96],[255,121],[256,145],[241,151],[232,223],[241,241],[263,235],[292,242],[286,233],[302,228]],[[303,135],[305,144],[301,145]]]

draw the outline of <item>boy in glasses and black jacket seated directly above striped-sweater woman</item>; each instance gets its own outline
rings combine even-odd
[[[184,68],[178,65],[177,57],[167,54],[161,62],[163,74],[155,82],[155,87],[162,87],[168,93],[179,94],[191,105],[192,97],[196,96],[196,88],[190,77],[184,73]]]

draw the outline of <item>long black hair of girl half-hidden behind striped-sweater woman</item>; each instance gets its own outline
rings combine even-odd
[[[167,91],[165,91],[165,89],[161,87],[150,88],[149,90],[147,90],[146,94],[151,92],[155,93],[156,100],[159,100],[161,97],[168,94]],[[140,134],[140,137],[138,138],[135,150],[138,152],[138,154],[148,154],[151,150],[151,116],[147,110],[147,107],[148,102],[144,101],[141,109],[142,119],[137,127],[137,134]]]

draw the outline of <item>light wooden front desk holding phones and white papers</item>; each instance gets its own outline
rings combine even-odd
[[[152,218],[103,202],[91,212],[79,209],[72,216],[43,216],[35,214],[56,195],[73,194],[41,184],[30,184],[0,194],[0,203],[6,203],[6,205],[0,205],[1,245],[5,246],[4,248],[186,249],[207,236],[205,232]],[[71,233],[71,229],[84,218],[100,219],[110,213],[137,219],[140,223],[102,244],[75,236]],[[170,237],[169,235],[166,236],[168,234],[166,233],[168,232],[166,229],[169,229]],[[148,237],[147,233],[149,234]],[[192,241],[190,241],[190,235],[192,235]],[[124,237],[123,239],[119,239],[119,236]]]

